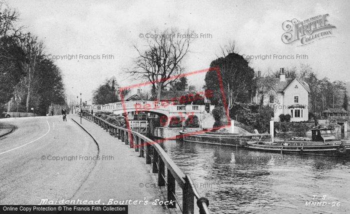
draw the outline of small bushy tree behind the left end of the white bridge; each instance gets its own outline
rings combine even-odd
[[[106,79],[103,84],[100,84],[92,95],[93,104],[107,104],[111,102],[118,102],[119,99],[119,85],[117,84],[115,77]]]

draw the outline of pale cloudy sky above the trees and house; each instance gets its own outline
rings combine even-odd
[[[350,81],[349,39],[350,1],[348,0],[7,0],[20,14],[19,24],[44,43],[47,57],[53,55],[91,55],[96,59],[57,59],[63,73],[68,102],[82,93],[91,102],[92,91],[106,78],[115,76],[119,85],[139,83],[123,70],[132,68],[137,57],[132,47],[145,49],[145,35],[152,29],[174,27],[193,30],[190,53],[184,59],[186,72],[208,68],[220,55],[220,45],[237,42],[239,54],[285,55],[292,59],[251,60],[255,71],[309,64],[318,77]],[[299,46],[285,44],[282,23],[328,14],[336,28],[332,37]],[[200,33],[210,34],[200,38]],[[102,54],[112,55],[102,59]],[[307,58],[296,59],[296,54]],[[200,87],[201,76],[188,76]]]

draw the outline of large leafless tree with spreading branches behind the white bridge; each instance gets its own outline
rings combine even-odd
[[[141,50],[137,45],[133,47],[138,52],[135,60],[135,66],[132,70],[126,70],[130,76],[137,79],[149,80],[152,83],[152,90],[156,92],[160,99],[161,89],[171,85],[177,76],[184,71],[182,60],[189,52],[189,45],[193,40],[194,33],[187,30],[184,33],[177,29],[166,29],[162,32],[153,30],[149,35],[152,38],[144,38],[146,41],[146,50]]]

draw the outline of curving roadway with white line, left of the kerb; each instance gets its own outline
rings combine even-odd
[[[0,138],[0,204],[70,199],[79,189],[96,163],[92,157],[98,149],[68,117],[64,122],[61,116],[0,120],[17,126]],[[54,160],[56,156],[65,159]]]

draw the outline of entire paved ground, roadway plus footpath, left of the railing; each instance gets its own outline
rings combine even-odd
[[[71,118],[79,121],[73,115],[64,122],[60,116],[0,121],[17,126],[0,138],[0,204],[100,199],[100,205],[107,205],[113,199],[117,204],[137,201],[137,205],[129,204],[128,213],[178,212],[152,204],[163,199],[157,187],[140,187],[140,183],[156,183],[144,158],[83,118],[82,125],[96,139],[98,149]],[[148,200],[147,205],[144,200]]]

